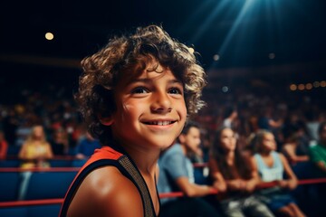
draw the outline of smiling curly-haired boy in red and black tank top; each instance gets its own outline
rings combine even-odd
[[[205,72],[157,25],[113,37],[82,69],[76,99],[102,147],[74,179],[61,216],[157,216],[158,156],[203,106]]]

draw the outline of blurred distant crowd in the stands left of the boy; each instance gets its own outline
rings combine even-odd
[[[51,91],[50,91],[51,90]],[[19,156],[24,144],[36,140],[50,146],[48,156],[91,156],[100,143],[82,123],[72,92],[62,87],[47,91],[22,90],[16,102],[0,104],[2,159]],[[86,146],[91,144],[90,146]]]

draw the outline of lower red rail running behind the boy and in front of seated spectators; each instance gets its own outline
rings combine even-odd
[[[315,179],[302,179],[298,181],[298,184],[321,184],[326,183],[326,178],[315,178]],[[262,183],[257,186],[257,189],[269,188],[276,186],[277,182]],[[212,190],[210,194],[217,194],[217,190]],[[169,197],[182,197],[184,193],[182,192],[172,192],[172,193],[159,193],[159,198],[169,198]],[[18,207],[18,206],[31,206],[31,205],[49,205],[49,204],[61,204],[63,202],[62,198],[58,199],[44,199],[44,200],[29,200],[29,201],[13,201],[13,202],[1,202],[1,207]]]

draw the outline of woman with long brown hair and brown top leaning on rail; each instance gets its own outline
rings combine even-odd
[[[250,156],[240,152],[235,132],[230,127],[217,130],[209,168],[225,216],[273,216],[253,194],[259,183],[258,173]]]

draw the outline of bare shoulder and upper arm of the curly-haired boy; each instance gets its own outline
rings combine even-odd
[[[114,166],[104,166],[83,180],[69,216],[143,216],[137,187]]]

